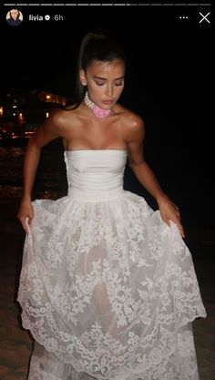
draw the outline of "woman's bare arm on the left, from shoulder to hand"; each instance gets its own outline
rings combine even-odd
[[[57,127],[57,114],[53,113],[46,123],[38,128],[36,134],[29,140],[26,148],[26,156],[23,167],[23,195],[17,217],[26,232],[27,224],[31,224],[34,218],[34,210],[31,204],[32,190],[36,178],[41,149],[50,141],[60,136]]]

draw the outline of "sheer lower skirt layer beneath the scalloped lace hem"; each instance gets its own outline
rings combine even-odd
[[[137,344],[134,340],[133,344]],[[152,349],[148,364],[145,356],[141,358],[136,370],[132,373],[109,377],[108,380],[198,380],[198,369],[193,344],[191,325],[180,328],[177,334],[178,349],[168,357],[161,357],[158,349]],[[46,368],[46,370],[45,370]],[[122,368],[123,369],[123,368]],[[123,372],[123,371],[122,371]],[[35,344],[31,359],[28,380],[101,380],[86,372],[77,372],[72,365],[63,364],[55,354],[49,353],[40,345]]]

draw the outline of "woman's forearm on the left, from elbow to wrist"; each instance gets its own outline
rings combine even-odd
[[[28,143],[24,160],[22,200],[31,200],[40,154],[41,148],[35,144],[32,138]]]

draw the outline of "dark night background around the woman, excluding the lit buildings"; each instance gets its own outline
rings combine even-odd
[[[179,206],[185,242],[192,254],[208,314],[206,319],[200,318],[193,324],[200,380],[213,379],[215,188],[211,6],[16,5],[24,21],[15,27],[5,21],[11,6],[0,7],[0,107],[7,94],[19,96],[32,90],[72,97],[78,47],[87,32],[113,32],[124,46],[128,70],[120,102],[144,118],[146,159],[161,187]],[[200,23],[200,12],[203,15],[210,12],[211,23]],[[29,14],[51,15],[51,20],[29,22]],[[54,21],[57,14],[63,15],[63,22]],[[179,19],[180,15],[189,18]],[[56,199],[67,193],[60,148],[56,141],[43,149],[34,198]],[[0,377],[4,380],[26,378],[32,350],[15,301],[25,239],[16,218],[25,149],[0,145]],[[128,166],[124,187],[143,195],[151,207],[157,208]]]

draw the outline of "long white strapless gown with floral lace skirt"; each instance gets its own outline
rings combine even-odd
[[[192,258],[176,224],[123,189],[127,158],[65,151],[67,196],[33,202],[18,292],[29,380],[199,379]]]

